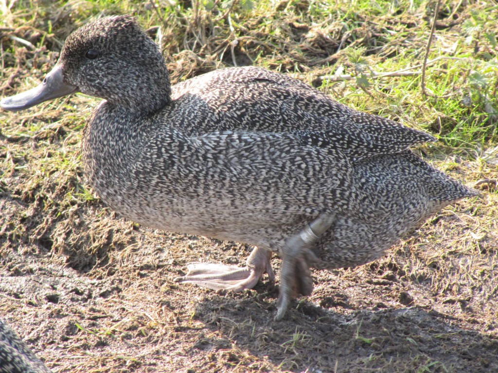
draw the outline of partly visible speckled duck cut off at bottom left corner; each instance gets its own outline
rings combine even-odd
[[[0,373],[52,373],[2,319]]]

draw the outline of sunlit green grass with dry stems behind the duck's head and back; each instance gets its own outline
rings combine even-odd
[[[497,141],[496,5],[469,7],[461,15],[466,20],[455,31],[436,38],[429,60],[443,59],[427,68],[426,83],[429,92],[444,98],[426,98],[421,94],[420,75],[378,80],[364,75],[394,72],[422,63],[429,24],[419,25],[418,19],[420,16],[429,19],[433,11],[433,6],[424,1],[398,1],[395,5],[392,1],[363,0],[153,4],[156,3],[18,1],[4,17],[7,25],[29,25],[41,32],[34,43],[37,49],[46,45],[58,50],[69,32],[91,17],[136,14],[145,27],[161,27],[161,42],[169,62],[179,57],[187,60],[190,69],[172,71],[176,81],[187,79],[199,70],[232,65],[241,56],[243,63],[250,61],[309,80],[314,64],[334,54],[339,43],[342,53],[318,66],[323,71],[321,75],[340,71],[356,76],[344,84],[322,82],[321,88],[341,102],[436,133],[456,151],[462,146],[483,146]],[[441,15],[455,10],[450,4],[443,4]],[[237,46],[232,50],[234,41]],[[16,46],[4,43],[4,67],[17,63],[9,59]],[[198,60],[192,61],[192,55],[186,55],[187,50]],[[0,74],[4,76],[5,72]],[[34,77],[26,79],[36,81]],[[34,84],[28,81],[26,86]],[[366,96],[364,90],[372,95]]]

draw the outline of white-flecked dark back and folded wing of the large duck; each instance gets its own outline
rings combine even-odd
[[[173,87],[173,93],[174,108],[182,115],[170,123],[190,134],[321,132],[323,144],[334,142],[352,160],[435,141],[422,131],[345,106],[296,79],[255,67],[217,70]]]

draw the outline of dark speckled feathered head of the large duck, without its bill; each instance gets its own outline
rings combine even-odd
[[[97,51],[99,57],[85,58],[89,50]],[[64,68],[65,82],[79,87],[81,92],[145,113],[164,106],[170,94],[169,74],[164,59],[157,55],[160,56],[159,47],[134,18],[115,16],[98,25],[86,23],[69,35],[58,64]],[[150,94],[156,85],[161,86],[161,94]]]

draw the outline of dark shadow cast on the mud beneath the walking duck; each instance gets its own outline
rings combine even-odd
[[[274,302],[268,303],[267,296],[205,299],[195,317],[225,339],[204,337],[193,349],[231,349],[228,356],[218,355],[233,364],[247,360],[246,351],[296,373],[498,372],[497,339],[466,330],[433,310],[388,308],[344,315],[301,301],[275,323]]]

